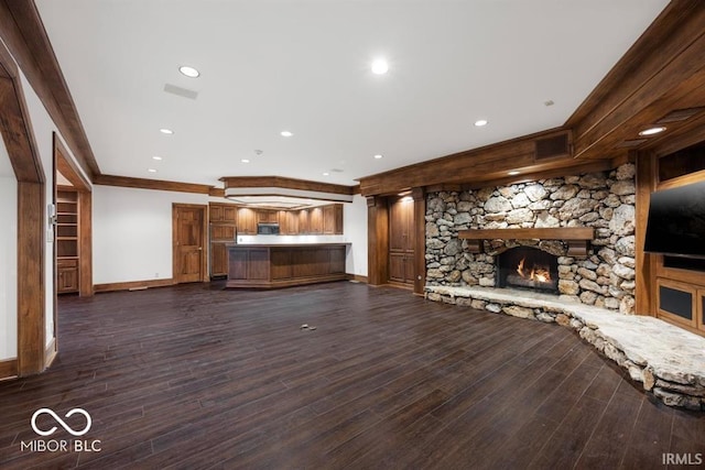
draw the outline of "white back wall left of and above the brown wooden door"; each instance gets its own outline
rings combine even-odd
[[[94,186],[94,284],[172,277],[172,203],[208,195]]]

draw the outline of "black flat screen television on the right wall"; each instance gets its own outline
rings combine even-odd
[[[705,259],[705,182],[651,194],[644,251]]]

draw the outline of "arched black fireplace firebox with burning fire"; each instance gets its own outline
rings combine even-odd
[[[558,259],[531,247],[517,247],[497,256],[497,287],[558,293]]]

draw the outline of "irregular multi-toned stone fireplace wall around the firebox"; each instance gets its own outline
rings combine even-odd
[[[558,299],[633,314],[632,164],[611,172],[430,193],[425,220],[427,286],[507,286],[509,271],[518,266],[502,272],[499,259],[523,247],[554,256],[555,265],[550,267],[555,267],[557,291],[553,293]],[[579,252],[573,240],[560,234],[561,230],[584,229],[593,234]],[[524,236],[544,230],[558,234]],[[488,236],[477,240],[464,236],[478,232]],[[513,287],[536,287],[535,283],[524,284],[530,285]]]

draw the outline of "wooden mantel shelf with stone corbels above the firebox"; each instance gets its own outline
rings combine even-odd
[[[471,240],[468,250],[482,252],[482,240],[561,240],[568,244],[570,256],[587,256],[587,245],[595,238],[595,229],[590,227],[556,227],[534,229],[489,229],[460,230],[458,238]]]

